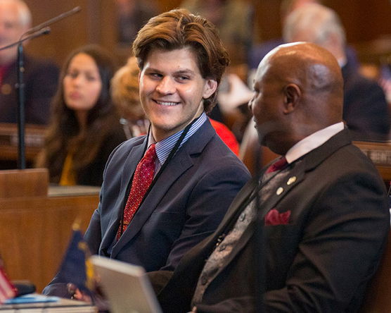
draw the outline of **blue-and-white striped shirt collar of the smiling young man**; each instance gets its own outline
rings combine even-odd
[[[187,134],[184,137],[184,140],[182,140],[181,145],[179,145],[179,148],[184,145],[184,143],[200,128],[203,123],[207,120],[206,113],[203,112],[200,117],[197,119],[196,122],[191,125],[191,128],[188,130]],[[164,164],[167,157],[169,156],[169,152],[171,152],[172,148],[174,148],[174,145],[177,143],[177,140],[181,136],[181,134],[184,132],[184,130],[180,130],[178,133],[175,133],[174,135],[171,135],[160,142],[156,142],[155,149],[156,149],[156,155],[158,156],[158,160],[160,164]],[[155,140],[153,139],[152,132],[149,132],[148,137],[148,147],[153,144]]]

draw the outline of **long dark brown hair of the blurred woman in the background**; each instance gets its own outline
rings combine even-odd
[[[87,54],[98,66],[102,88],[95,106],[89,110],[86,130],[81,132],[75,111],[64,101],[63,79],[70,62],[77,54]],[[77,173],[94,160],[105,137],[118,116],[110,97],[110,80],[115,72],[113,58],[96,45],[87,45],[71,52],[60,72],[58,89],[51,103],[51,122],[46,132],[45,146],[37,158],[36,166],[49,168],[52,183],[58,183],[65,156],[73,152],[73,169]]]

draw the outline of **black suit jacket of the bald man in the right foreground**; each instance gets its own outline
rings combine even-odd
[[[265,312],[356,312],[366,283],[378,266],[390,227],[383,181],[376,168],[350,143],[347,130],[302,158],[283,183],[261,204],[291,211],[287,225],[264,226],[259,251],[250,223],[229,263],[205,290],[198,312],[256,312],[259,296],[253,256],[264,256]],[[288,178],[286,179],[288,181]],[[233,200],[217,231],[184,255],[171,280],[169,271],[150,273],[165,312],[187,312],[205,264],[222,229],[243,209],[254,190],[251,180]],[[279,186],[276,186],[276,189]]]

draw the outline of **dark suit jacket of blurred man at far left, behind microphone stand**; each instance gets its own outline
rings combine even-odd
[[[16,61],[8,68],[0,88],[0,123],[16,123],[18,101]],[[58,68],[54,63],[25,55],[25,122],[47,124],[50,102],[57,89]]]

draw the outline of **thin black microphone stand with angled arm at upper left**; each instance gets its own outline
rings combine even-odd
[[[6,47],[1,47],[1,50],[9,49],[18,45],[18,72],[17,72],[17,83],[15,88],[17,89],[17,99],[18,99],[18,169],[26,168],[26,159],[25,159],[25,85],[23,83],[23,73],[25,72],[24,67],[24,57],[23,57],[23,42],[28,39],[34,39],[41,35],[47,35],[50,33],[51,29],[48,27],[49,25],[62,20],[63,18],[67,18],[77,12],[79,12],[81,8],[76,6],[72,8],[72,10],[62,13],[55,18],[51,18],[44,23],[41,23],[35,27],[27,30],[17,42],[13,42],[12,44],[8,44]]]

